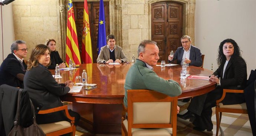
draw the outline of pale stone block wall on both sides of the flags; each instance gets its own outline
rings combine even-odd
[[[57,50],[65,58],[65,22],[59,5],[68,0],[15,0],[13,18],[15,39],[22,39],[32,49],[47,38],[56,39]],[[83,1],[83,0],[73,0]],[[98,1],[98,0],[88,0]],[[151,39],[151,3],[166,0],[104,0],[109,1],[110,33],[122,46],[129,61],[144,39]],[[195,0],[170,0],[183,3],[183,34],[194,44]],[[65,7],[65,6],[64,6]],[[65,13],[65,12],[64,12]],[[30,52],[29,52],[30,53]],[[29,56],[29,55],[28,55]]]

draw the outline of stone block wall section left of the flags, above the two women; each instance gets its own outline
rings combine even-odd
[[[58,0],[15,0],[12,2],[13,24],[15,39],[26,42],[29,52],[37,44],[43,43],[47,38],[56,40],[56,49],[62,51],[59,45]]]

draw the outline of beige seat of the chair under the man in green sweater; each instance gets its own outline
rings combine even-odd
[[[124,126],[128,130],[127,119],[124,120]],[[132,128],[132,136],[172,136],[172,128],[154,128],[140,129]]]

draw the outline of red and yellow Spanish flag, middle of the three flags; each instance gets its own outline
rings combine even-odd
[[[82,39],[82,60],[83,63],[92,63],[92,42],[89,25],[87,0],[83,7],[83,39]]]

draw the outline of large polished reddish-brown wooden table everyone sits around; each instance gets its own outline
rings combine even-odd
[[[82,76],[83,69],[86,70],[88,83],[97,84],[92,90],[82,89],[79,93],[69,93],[61,97],[63,101],[72,102],[73,111],[81,115],[79,126],[95,134],[121,134],[121,111],[124,99],[125,77],[132,64],[100,66],[100,64],[82,64],[79,68],[70,71],[60,71],[61,79],[58,83],[66,80],[75,82],[76,76]],[[180,78],[181,66],[168,66],[161,69],[155,66],[154,71],[158,76],[168,80],[177,81],[182,94],[179,99],[194,97],[205,94],[215,88],[215,83],[208,80],[194,80]],[[54,74],[54,70],[51,70]],[[210,76],[213,72],[207,69],[189,66],[187,74],[198,76]],[[148,79],[150,80],[150,79]],[[170,88],[171,89],[171,88]]]

